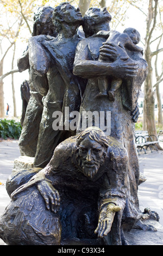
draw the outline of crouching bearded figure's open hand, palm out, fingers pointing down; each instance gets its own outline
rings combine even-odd
[[[120,211],[120,206],[115,205],[114,203],[106,204],[99,214],[98,226],[95,230],[95,233],[98,234],[98,237],[104,237],[108,235],[111,230],[112,222],[114,221],[114,216],[116,211]]]

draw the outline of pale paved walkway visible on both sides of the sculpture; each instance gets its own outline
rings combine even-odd
[[[161,145],[163,147],[163,143]],[[18,148],[18,141],[1,141],[0,142],[0,216],[3,214],[5,207],[9,204],[10,198],[5,190],[5,182],[8,176],[11,174],[12,168],[14,166],[14,160],[20,156],[20,150]],[[139,186],[139,202],[140,209],[143,211],[146,207],[151,210],[158,212],[160,216],[160,224],[163,226],[163,151],[153,151],[145,155],[142,153],[139,156],[140,162],[140,172],[142,172],[147,180]],[[4,185],[3,185],[4,184]],[[156,232],[157,233],[157,232]],[[149,244],[163,245],[162,232],[156,235],[153,232],[147,236]],[[146,233],[147,234],[147,233]],[[133,236],[134,237],[134,236]],[[138,237],[138,236],[137,236]],[[136,237],[136,239],[137,239]],[[153,237],[155,237],[156,242],[153,242]],[[141,240],[141,238],[140,238]],[[153,242],[153,243],[152,243]],[[142,244],[142,242],[138,242]],[[146,245],[147,241],[143,243]],[[5,243],[0,239],[0,245],[5,245]],[[133,244],[134,245],[134,242]]]

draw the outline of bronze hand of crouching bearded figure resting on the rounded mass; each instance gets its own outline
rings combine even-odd
[[[59,192],[55,190],[51,182],[42,180],[37,184],[41,196],[45,200],[47,210],[51,210],[56,213],[60,207],[60,196]]]

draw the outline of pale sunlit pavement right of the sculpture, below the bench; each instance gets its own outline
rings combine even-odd
[[[139,164],[140,172],[147,178],[138,190],[140,208],[149,207],[158,212],[163,226],[163,151],[142,154],[139,156]]]

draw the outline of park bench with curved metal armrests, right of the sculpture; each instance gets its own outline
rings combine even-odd
[[[145,152],[147,154],[147,149],[151,149],[151,153],[153,152],[153,147],[158,151],[156,144],[159,143],[159,139],[155,135],[148,135],[147,131],[136,131],[135,132],[135,142],[137,152],[140,155],[140,151]]]

